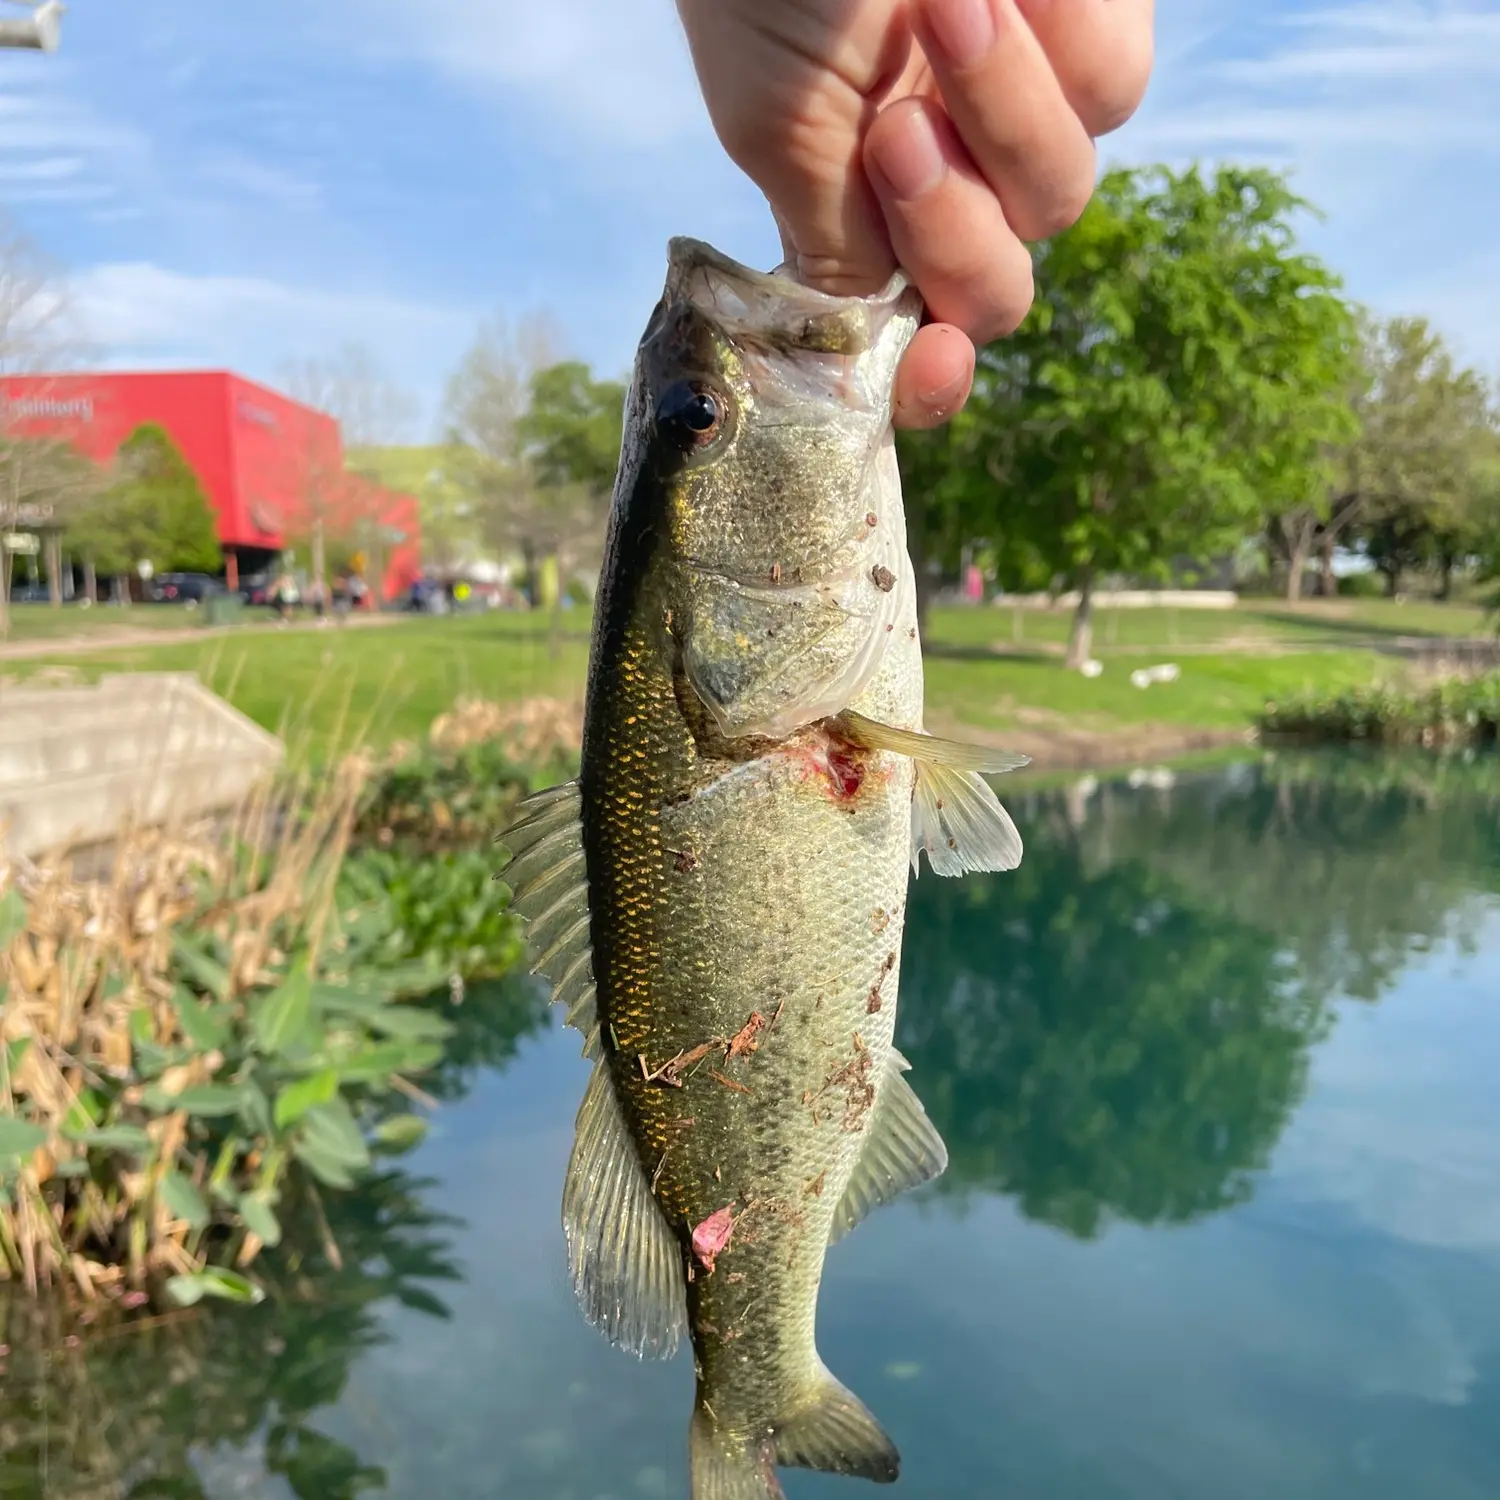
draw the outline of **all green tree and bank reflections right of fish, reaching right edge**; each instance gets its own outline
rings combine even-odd
[[[1017,806],[1017,872],[912,888],[898,1044],[951,1154],[934,1194],[1080,1238],[1245,1202],[1330,1000],[1474,930],[1497,812],[1492,760],[1348,756]]]

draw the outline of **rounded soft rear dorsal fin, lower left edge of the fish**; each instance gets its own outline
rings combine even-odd
[[[562,1227],[590,1323],[634,1354],[670,1358],[687,1326],[682,1250],[651,1196],[603,1058],[578,1112]]]

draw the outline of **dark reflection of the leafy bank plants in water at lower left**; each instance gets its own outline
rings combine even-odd
[[[444,1014],[453,1046],[423,1084],[456,1100],[546,1024],[546,998],[506,980]],[[315,1419],[390,1341],[392,1308],[452,1317],[442,1288],[462,1281],[452,1240],[464,1220],[432,1208],[436,1186],[396,1168],[357,1194],[291,1204],[286,1248],[256,1263],[267,1299],[252,1310],[208,1302],[96,1328],[0,1288],[0,1496],[202,1500],[260,1494],[266,1479],[298,1500],[384,1490],[386,1470]]]

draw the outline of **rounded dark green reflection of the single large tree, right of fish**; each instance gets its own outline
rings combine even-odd
[[[948,1142],[939,1192],[1083,1238],[1248,1197],[1324,1024],[1272,933],[1054,831],[1004,884],[918,880],[908,932],[898,1046]]]

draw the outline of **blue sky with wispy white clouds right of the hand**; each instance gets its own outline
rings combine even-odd
[[[1353,297],[1430,316],[1500,369],[1500,0],[1198,0],[1161,8],[1161,64],[1106,159],[1263,162],[1323,220]]]

